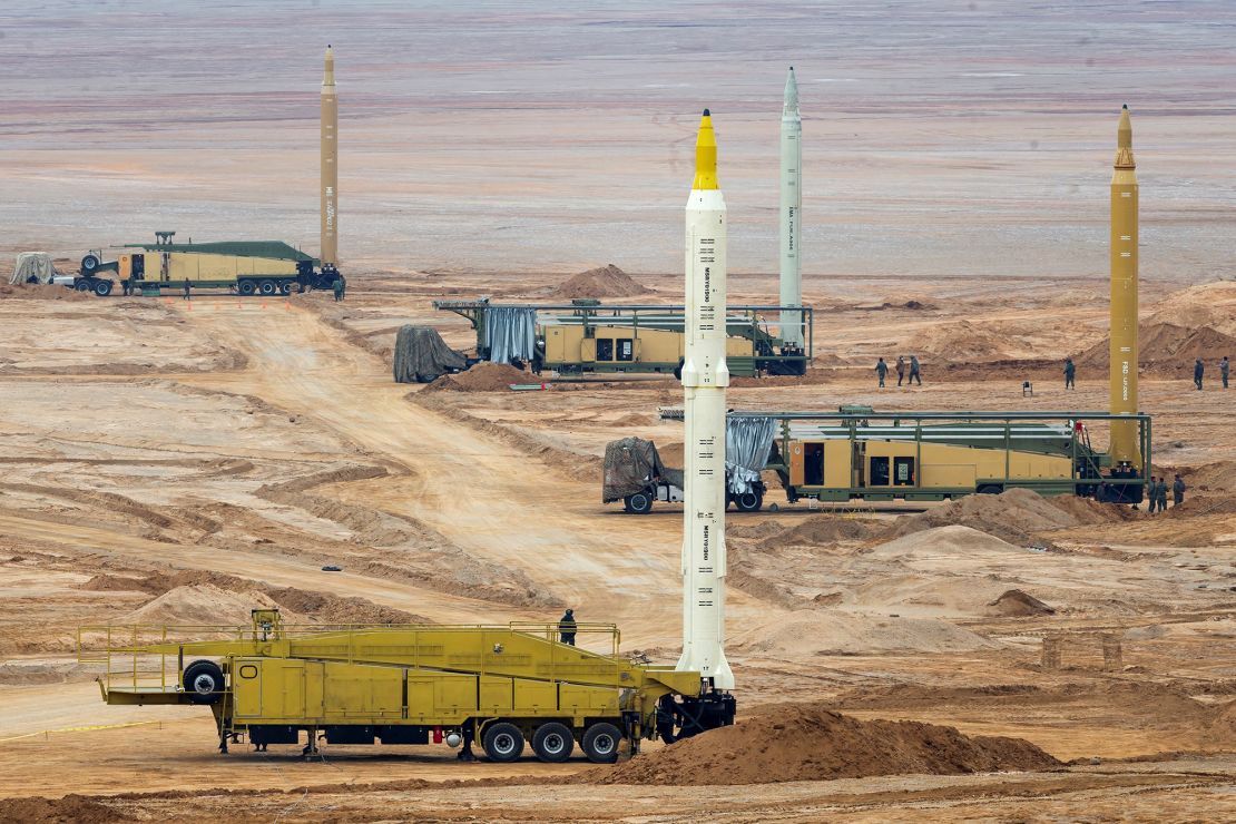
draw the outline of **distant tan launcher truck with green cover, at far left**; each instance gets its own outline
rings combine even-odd
[[[227,289],[240,295],[288,295],[329,289],[339,278],[331,267],[282,241],[174,243],[176,232],[156,232],[154,243],[91,250],[78,274],[64,285],[100,298],[129,285],[135,293],[163,289]]]

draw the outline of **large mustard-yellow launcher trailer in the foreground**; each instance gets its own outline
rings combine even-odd
[[[701,709],[700,673],[633,663],[611,624],[577,625],[609,654],[555,640],[556,625],[284,628],[256,609],[250,628],[83,628],[79,658],[106,665],[109,704],[206,704],[220,750],[247,738],[299,744],[480,741],[493,761],[514,761],[530,741],[543,761],[565,761],[578,742],[611,762],[620,742],[638,750],[656,734],[656,705],[675,696],[680,736],[733,723]],[[176,641],[177,634],[216,640]],[[598,641],[598,642],[602,642]]]

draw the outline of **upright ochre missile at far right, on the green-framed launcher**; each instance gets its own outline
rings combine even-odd
[[[1137,413],[1137,172],[1128,106],[1120,112],[1111,174],[1111,414]],[[1112,467],[1141,468],[1136,421],[1111,424]]]

